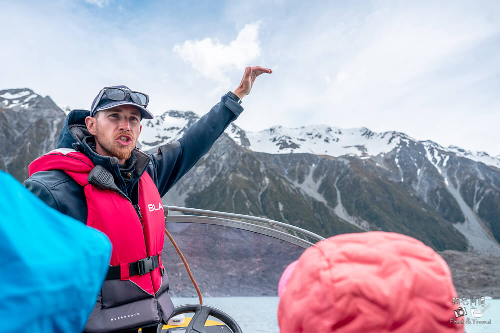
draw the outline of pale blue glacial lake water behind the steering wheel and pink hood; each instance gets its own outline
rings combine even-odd
[[[179,297],[172,298],[174,305],[197,304],[198,298]],[[277,333],[279,332],[277,322],[277,309],[279,299],[277,297],[206,297],[203,304],[218,308],[233,317],[244,333]],[[484,311],[481,318],[471,316],[470,305],[463,305],[467,315],[458,319],[464,319],[465,329],[469,333],[498,333],[500,332],[500,300],[487,299],[485,305],[490,306]],[[458,307],[458,306],[457,306]],[[482,309],[476,306],[476,309]],[[457,320],[458,320],[457,319]],[[470,324],[467,324],[469,319]],[[473,324],[475,319],[476,324]],[[425,320],[422,316],[422,320]],[[478,324],[478,320],[488,321],[491,324]]]

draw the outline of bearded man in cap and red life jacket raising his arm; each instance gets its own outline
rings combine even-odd
[[[146,154],[135,148],[140,120],[152,119],[149,97],[125,86],[102,89],[90,111],[66,118],[56,150],[29,166],[25,185],[49,206],[104,232],[112,243],[110,268],[87,332],[156,332],[172,314],[161,263],[161,197],[205,154],[242,112],[241,98],[257,76],[247,67],[234,92],[177,141]]]

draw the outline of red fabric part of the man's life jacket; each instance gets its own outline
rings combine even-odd
[[[162,283],[161,251],[165,238],[165,215],[161,197],[147,172],[139,179],[139,218],[132,203],[112,190],[99,190],[87,177],[95,165],[84,154],[62,148],[29,165],[29,176],[38,171],[62,170],[84,187],[88,206],[87,225],[105,233],[112,243],[110,265],[120,266],[121,280],[130,280],[151,295]],[[160,266],[144,275],[129,276],[128,264],[159,255]]]

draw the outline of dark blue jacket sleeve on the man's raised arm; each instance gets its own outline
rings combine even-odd
[[[147,172],[161,196],[185,175],[210,150],[217,138],[243,111],[234,99],[222,96],[220,103],[186,130],[178,140],[158,148],[151,154]]]

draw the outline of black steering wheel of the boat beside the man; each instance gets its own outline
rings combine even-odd
[[[208,319],[208,316],[213,316],[217,319],[220,319],[234,333],[243,333],[243,331],[241,331],[241,328],[239,327],[238,323],[236,323],[234,318],[232,318],[222,310],[207,305],[201,305],[201,304],[179,305],[178,307],[175,307],[175,309],[173,309],[173,314],[170,316],[170,318],[186,312],[194,312],[194,316],[192,316],[191,322],[186,328],[185,331],[186,333],[206,333],[205,322]]]

